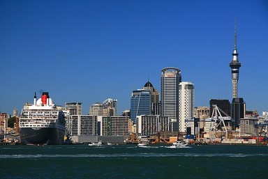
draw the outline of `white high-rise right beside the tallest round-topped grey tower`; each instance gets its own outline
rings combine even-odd
[[[186,132],[186,120],[193,118],[194,86],[191,82],[179,83],[179,132]]]

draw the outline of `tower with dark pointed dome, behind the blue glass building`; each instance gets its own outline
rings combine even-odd
[[[154,86],[149,81],[147,81],[143,89],[151,91],[151,114],[159,115],[160,114],[159,92],[156,90],[156,88],[154,88]]]

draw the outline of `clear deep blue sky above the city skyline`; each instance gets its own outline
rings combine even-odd
[[[83,102],[83,114],[114,98],[121,114],[148,78],[161,91],[168,66],[195,85],[195,107],[231,101],[235,17],[238,95],[267,111],[267,1],[2,0],[0,111],[48,91],[57,105]]]

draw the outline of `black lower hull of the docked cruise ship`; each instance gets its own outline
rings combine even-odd
[[[55,127],[20,128],[22,144],[27,145],[61,145],[64,143],[64,130]]]

